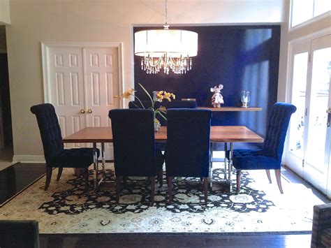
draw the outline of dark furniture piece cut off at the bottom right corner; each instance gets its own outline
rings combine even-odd
[[[321,234],[326,228],[331,228],[331,203],[314,206],[311,247],[321,247]]]

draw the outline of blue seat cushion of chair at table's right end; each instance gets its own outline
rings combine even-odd
[[[281,161],[263,154],[263,150],[234,149],[233,166],[237,170],[278,170],[281,168]],[[228,152],[226,156],[228,157]]]

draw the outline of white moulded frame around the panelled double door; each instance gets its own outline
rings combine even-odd
[[[118,64],[119,64],[119,92],[118,96],[124,92],[124,71],[123,71],[123,43],[122,42],[42,42],[41,43],[41,56],[43,63],[43,92],[44,103],[50,103],[50,68],[48,57],[50,48],[57,47],[75,47],[75,48],[117,48],[118,51]],[[124,101],[119,101],[119,108],[123,108]]]

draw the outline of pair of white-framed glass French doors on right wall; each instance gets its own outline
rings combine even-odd
[[[286,163],[331,197],[331,35],[293,45]]]

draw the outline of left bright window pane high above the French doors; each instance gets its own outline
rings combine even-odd
[[[313,17],[314,0],[293,0],[292,27]]]

